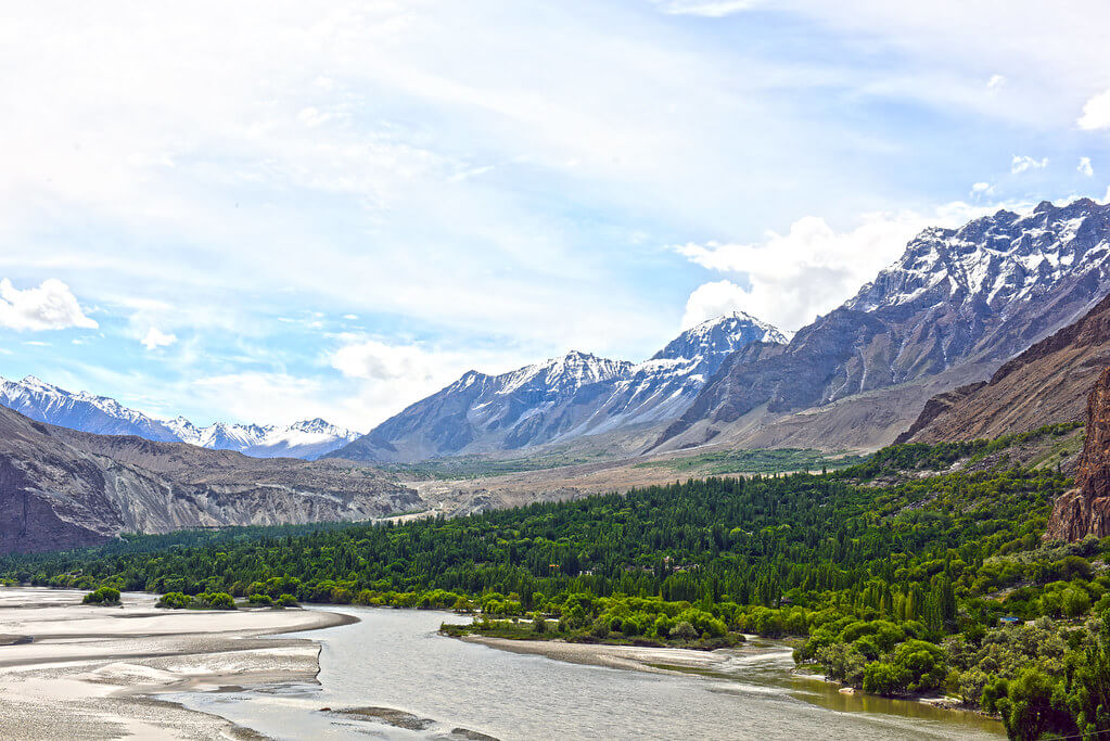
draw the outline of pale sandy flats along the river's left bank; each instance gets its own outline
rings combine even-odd
[[[249,729],[151,698],[275,681],[311,681],[319,646],[263,638],[353,622],[305,610],[158,610],[83,592],[0,588],[0,738],[253,739]]]

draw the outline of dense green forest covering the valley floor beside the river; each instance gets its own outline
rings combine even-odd
[[[1110,731],[1110,542],[1042,542],[1071,481],[1006,455],[1072,428],[456,519],[131,536],[8,556],[0,578],[454,609],[475,613],[464,630],[519,638],[795,637],[799,664],[864,691],[955,696],[1011,738],[1098,738]]]

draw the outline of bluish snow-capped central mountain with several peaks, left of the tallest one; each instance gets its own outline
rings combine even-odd
[[[731,353],[780,343],[744,313],[705,322],[633,365],[579,352],[490,376],[471,370],[329,454],[354,460],[418,460],[516,450],[674,419]]]

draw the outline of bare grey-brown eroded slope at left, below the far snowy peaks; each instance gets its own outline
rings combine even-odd
[[[372,468],[93,435],[0,407],[0,554],[121,532],[366,519],[420,505]]]

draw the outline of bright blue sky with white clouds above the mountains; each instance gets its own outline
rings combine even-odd
[[[1110,195],[1103,2],[159,4],[6,10],[0,376],[364,432]]]

